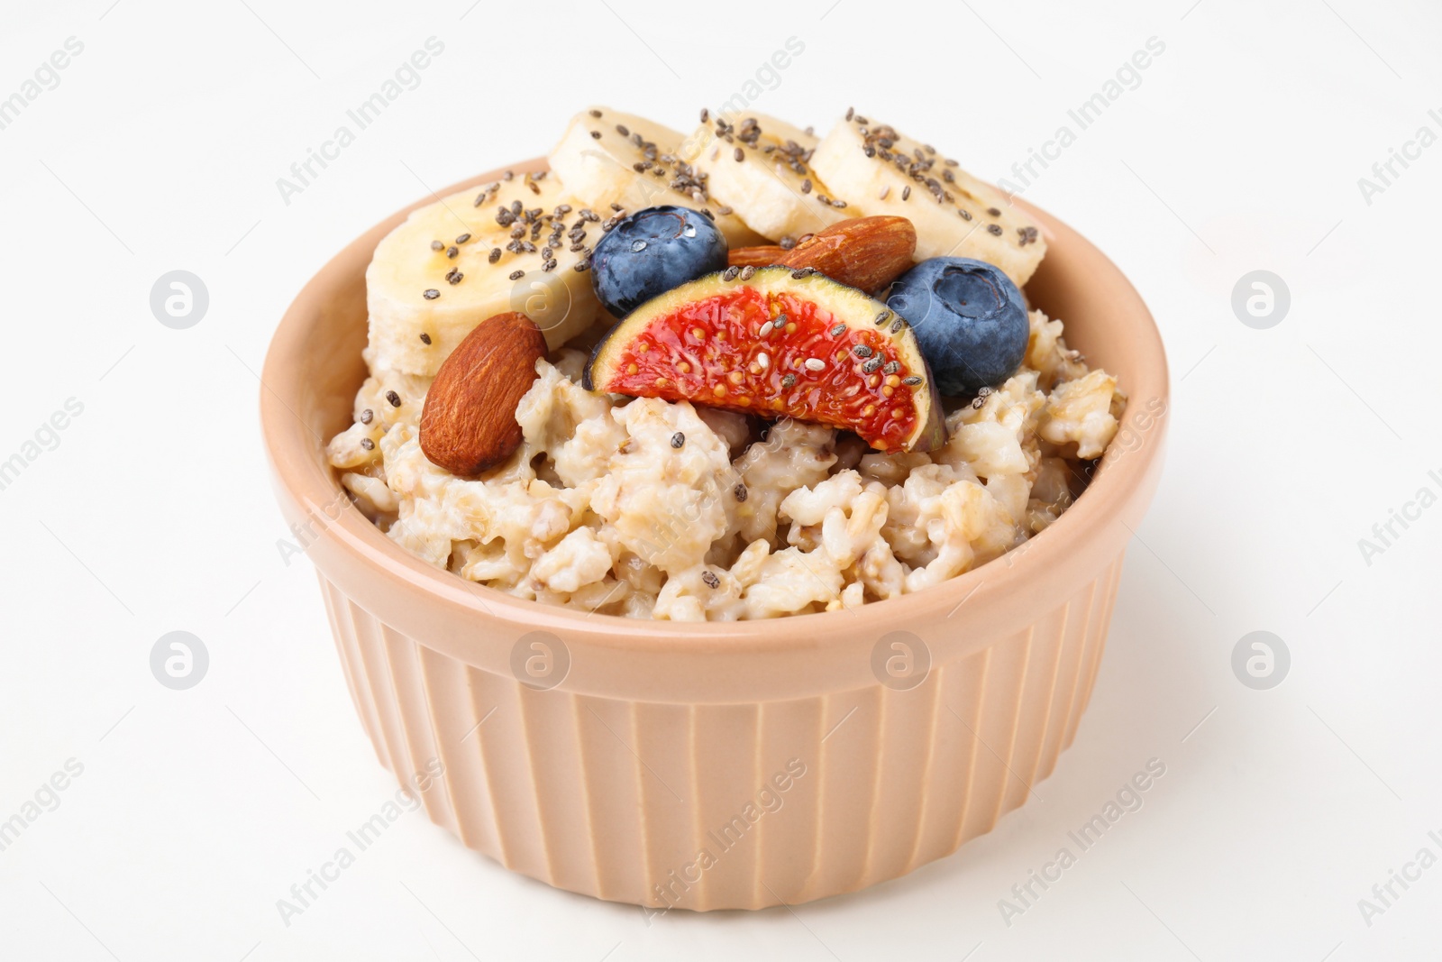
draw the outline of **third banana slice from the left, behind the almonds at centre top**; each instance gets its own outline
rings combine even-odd
[[[740,127],[715,117],[681,146],[681,157],[707,175],[711,196],[748,228],[773,241],[795,241],[857,216],[808,166],[818,143],[815,134],[774,117],[754,114]]]

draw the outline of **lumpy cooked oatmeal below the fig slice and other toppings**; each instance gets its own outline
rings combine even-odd
[[[585,355],[539,361],[523,441],[469,480],[421,453],[430,378],[381,372],[330,463],[407,551],[549,604],[672,620],[852,607],[920,591],[1021,545],[1066,511],[1116,433],[1116,379],[1030,314],[1025,366],[946,418],[930,453],[836,428],[580,385]],[[386,395],[395,392],[401,405]]]

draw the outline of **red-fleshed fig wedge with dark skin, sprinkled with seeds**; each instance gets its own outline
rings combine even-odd
[[[880,451],[946,443],[907,323],[810,270],[730,267],[653,297],[596,345],[583,384],[828,424]]]

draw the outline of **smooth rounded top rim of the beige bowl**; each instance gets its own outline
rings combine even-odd
[[[433,192],[365,231],[332,257],[297,293],[271,336],[261,372],[261,434],[277,496],[286,495],[303,511],[319,516],[319,512],[327,511],[326,506],[336,503],[336,498],[343,492],[336,472],[323,463],[323,450],[329,437],[323,438],[320,446],[322,464],[319,467],[322,470],[313,470],[316,467],[314,433],[296,414],[301,385],[300,379],[293,375],[300,365],[291,355],[300,349],[306,332],[317,316],[314,307],[326,303],[326,291],[333,290],[342,273],[355,262],[360,254],[358,248],[368,248],[363,254],[365,262],[369,262],[375,242],[412,211],[440,198],[496,180],[508,170],[525,173],[547,169],[545,159],[538,157]],[[427,594],[437,603],[459,606],[463,613],[474,616],[477,623],[485,623],[483,619],[492,619],[505,622],[519,635],[534,630],[565,632],[567,639],[584,636],[587,643],[600,648],[616,646],[658,653],[675,650],[678,640],[685,640],[686,649],[691,652],[746,653],[756,650],[776,653],[812,649],[823,643],[826,637],[835,636],[832,629],[845,627],[848,633],[868,632],[880,636],[904,622],[939,620],[937,614],[942,612],[955,613],[973,597],[976,603],[970,610],[979,610],[983,609],[988,599],[1015,593],[1017,586],[1028,583],[1040,586],[1043,581],[1051,581],[1054,578],[1045,577],[1048,573],[1071,570],[1073,565],[1067,564],[1069,545],[1076,544],[1077,539],[1110,538],[1115,541],[1116,534],[1115,531],[1109,532],[1109,529],[1118,522],[1126,526],[1126,538],[1129,539],[1131,525],[1126,525],[1123,518],[1126,515],[1132,515],[1133,521],[1138,518],[1136,495],[1142,489],[1149,489],[1149,483],[1155,482],[1155,473],[1159,469],[1162,441],[1169,420],[1165,417],[1171,402],[1169,376],[1161,332],[1141,296],[1120,270],[1064,222],[1021,198],[1012,198],[1011,202],[1037,218],[1048,247],[1064,241],[1069,248],[1083,254],[1096,271],[1109,274],[1105,280],[1129,301],[1119,304],[1118,312],[1132,319],[1135,330],[1131,332],[1131,337],[1133,349],[1142,355],[1142,362],[1138,365],[1142,376],[1135,378],[1132,384],[1120,385],[1128,394],[1128,405],[1122,415],[1123,424],[1133,415],[1133,405],[1144,398],[1156,398],[1164,405],[1161,408],[1162,417],[1152,428],[1155,437],[1151,443],[1126,451],[1125,457],[1115,443],[1110,444],[1086,492],[1056,522],[1034,535],[1021,548],[1014,548],[999,558],[921,591],[868,601],[855,609],[740,622],[671,622],[580,612],[519,599],[469,581],[411,555],[350,503],[342,508],[339,516],[330,516],[327,511],[327,522],[322,525],[317,539],[327,541],[327,548],[359,558],[366,567]],[[323,568],[320,560],[311,554],[314,547],[316,544],[311,542],[304,550],[311,555],[316,567]],[[1094,571],[1092,574],[1094,575]],[[362,604],[362,607],[365,606]],[[957,623],[957,627],[962,627],[962,623]],[[476,639],[477,643],[482,640]]]

